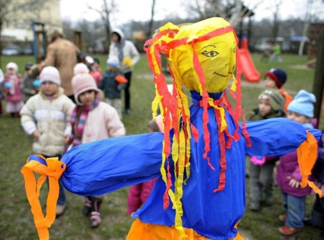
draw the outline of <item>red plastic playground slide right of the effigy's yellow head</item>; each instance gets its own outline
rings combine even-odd
[[[242,38],[241,48],[239,51],[239,60],[242,66],[243,75],[248,82],[259,82],[261,74],[255,68],[253,60],[251,58],[249,47],[248,47],[248,39]]]

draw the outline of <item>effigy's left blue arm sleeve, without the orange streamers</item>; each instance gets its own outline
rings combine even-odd
[[[81,144],[61,159],[64,187],[78,195],[101,195],[160,174],[163,134],[147,133]]]

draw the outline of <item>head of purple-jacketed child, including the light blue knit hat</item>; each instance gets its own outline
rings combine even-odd
[[[302,124],[306,129],[313,129],[310,123],[314,117],[314,105],[316,97],[312,93],[300,90],[293,101],[287,107],[287,117]]]

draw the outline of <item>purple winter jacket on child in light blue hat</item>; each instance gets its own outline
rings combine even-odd
[[[297,151],[287,153],[280,157],[276,181],[280,190],[287,194],[293,196],[307,196],[310,194],[311,188],[308,185],[305,188],[289,186],[290,179],[287,177],[290,176],[298,181],[302,180],[298,166]]]

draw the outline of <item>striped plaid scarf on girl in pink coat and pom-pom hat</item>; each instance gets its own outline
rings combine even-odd
[[[70,139],[72,141],[73,147],[82,143],[82,135],[85,128],[88,113],[89,111],[95,109],[99,105],[99,102],[100,101],[96,99],[89,106],[78,105],[73,109],[70,117],[70,123],[72,126],[72,135]]]

